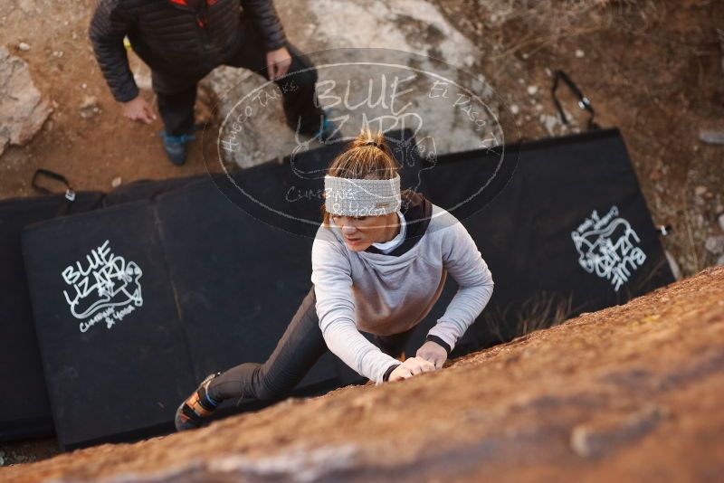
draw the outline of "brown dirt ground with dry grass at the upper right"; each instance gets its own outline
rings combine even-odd
[[[704,244],[722,233],[724,146],[700,142],[699,133],[724,131],[724,52],[716,33],[724,29],[724,3],[436,4],[480,47],[480,71],[519,107],[521,137],[549,135],[540,112],[553,111],[550,73],[567,72],[592,102],[595,122],[621,129],[654,223],[672,226],[662,242],[684,275],[715,262]],[[565,97],[565,87],[558,91],[585,127],[587,113]]]

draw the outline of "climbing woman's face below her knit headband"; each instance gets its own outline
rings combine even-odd
[[[397,213],[359,217],[333,214],[331,218],[351,251],[365,251],[372,243],[389,242],[400,227]]]

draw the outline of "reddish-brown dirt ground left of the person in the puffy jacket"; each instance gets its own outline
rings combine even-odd
[[[173,166],[157,136],[160,120],[146,126],[121,117],[88,40],[94,5],[94,0],[0,4],[0,44],[28,62],[36,87],[54,108],[31,143],[0,157],[0,199],[35,194],[30,180],[38,167],[62,173],[76,190],[100,191],[110,191],[117,177],[129,183],[206,172],[201,143],[193,145],[185,166]],[[30,50],[18,50],[21,42]],[[155,100],[148,90],[142,94]],[[97,99],[100,112],[83,118],[81,105],[88,97]]]

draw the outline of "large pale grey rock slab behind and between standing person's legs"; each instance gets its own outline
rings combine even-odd
[[[471,77],[453,67],[475,62],[479,48],[445,20],[433,3],[405,0],[404,6],[392,6],[378,2],[379,8],[369,8],[357,0],[319,0],[302,7],[293,0],[278,0],[275,5],[282,18],[288,14],[291,19],[285,29],[306,39],[300,48],[314,52],[311,60],[319,73],[319,101],[330,109],[342,137],[357,136],[365,122],[373,130],[412,128],[415,148],[420,152],[424,148],[430,157],[504,142],[497,122],[500,106],[491,85],[482,76]],[[350,28],[328,22],[329,18],[355,18],[356,22]],[[334,49],[359,45],[371,50],[360,52],[357,60],[371,63],[338,66],[356,59]],[[390,95],[396,81],[393,108]],[[207,76],[202,88],[218,99],[216,112],[222,125],[216,142],[224,163],[253,166],[315,146],[309,137],[298,136],[286,126],[281,94],[262,76],[223,67]],[[370,101],[365,102],[367,95]]]

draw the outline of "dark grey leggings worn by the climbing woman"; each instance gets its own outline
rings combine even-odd
[[[319,328],[315,302],[312,287],[269,359],[264,364],[245,363],[225,371],[209,384],[209,395],[218,402],[237,397],[273,400],[289,395],[329,350]],[[384,353],[398,357],[412,332],[376,336],[375,342]]]

